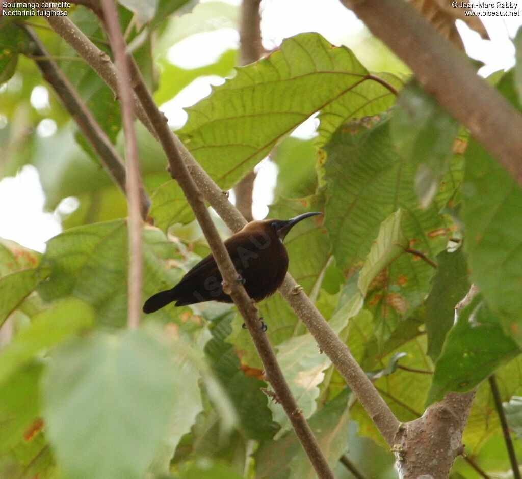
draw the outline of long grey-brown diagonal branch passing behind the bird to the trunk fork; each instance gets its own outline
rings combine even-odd
[[[46,20],[53,30],[61,35],[62,38],[97,71],[111,89],[116,88],[115,78],[117,73],[114,66],[108,57],[98,50],[73,22],[64,16],[50,16],[46,17]],[[103,62],[99,61],[100,56],[105,57]],[[135,78],[133,78],[133,82],[136,84],[136,92],[140,82]],[[199,192],[216,210],[231,230],[240,230],[246,224],[243,216],[241,216],[234,205],[228,201],[226,193],[212,181],[206,171],[199,166],[194,157],[188,152],[183,143],[170,130],[167,121],[163,120],[161,124],[157,122],[155,126],[152,127],[151,120],[149,120],[147,115],[152,113],[156,115],[159,113],[156,105],[153,107],[150,106],[150,109],[148,109],[145,105],[142,106],[141,103],[139,103],[136,96],[135,102],[138,102],[138,118],[144,122],[144,125],[152,132],[153,136],[159,138],[159,134],[156,130],[156,128],[158,128],[165,138],[170,138],[169,144],[171,146],[163,146],[165,153],[169,154],[172,149],[176,149],[176,154],[183,159]],[[346,344],[331,330],[325,318],[319,313],[306,294],[300,291],[299,285],[289,274],[287,274],[279,291],[314,336],[319,348],[327,354],[336,369],[341,373],[343,378],[345,378],[355,396],[357,396],[366,412],[379,428],[379,431],[381,431],[386,442],[390,446],[393,446],[394,437],[399,428],[399,422],[386,402],[378,394],[370,379],[366,376],[357,361],[355,361]],[[256,324],[255,329],[257,328],[258,324]]]

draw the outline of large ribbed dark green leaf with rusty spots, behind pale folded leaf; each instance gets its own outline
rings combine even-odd
[[[435,206],[419,206],[414,190],[415,168],[395,152],[388,125],[387,120],[370,129],[347,125],[325,147],[325,227],[343,271],[351,274],[359,267],[381,223],[399,208],[402,212],[400,230],[404,240],[399,243],[403,251],[408,247],[411,252],[398,255],[365,286],[366,307],[374,314],[381,342],[428,293],[435,269],[422,257],[433,261],[445,247],[449,226]]]

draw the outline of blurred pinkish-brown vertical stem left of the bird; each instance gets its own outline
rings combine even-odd
[[[134,130],[133,91],[128,82],[131,78],[127,62],[127,45],[120,30],[120,21],[113,0],[102,0],[101,7],[105,28],[109,33],[112,51],[116,60],[118,75],[118,98],[122,110],[123,132],[125,134],[125,156],[127,159],[127,205],[128,205],[128,312],[129,328],[136,329],[141,318],[141,287],[143,285],[143,257],[141,249],[143,223],[139,215],[139,192],[143,187],[139,173],[138,142]]]

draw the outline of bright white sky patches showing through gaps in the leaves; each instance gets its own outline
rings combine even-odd
[[[234,5],[240,3],[240,0],[226,1]],[[322,0],[321,6],[317,5],[316,0],[263,0],[264,46],[271,50],[278,46],[282,39],[305,31],[316,31],[333,44],[345,43],[350,46],[348,41],[361,31],[361,22],[338,0]],[[464,24],[459,26],[468,54],[486,64],[481,71],[484,76],[514,64],[514,48],[509,38],[515,36],[517,28],[522,24],[522,8],[520,3],[518,5],[518,16],[482,17],[491,42],[481,40],[477,33],[470,31]],[[211,63],[222,52],[238,45],[238,42],[238,34],[232,29],[199,33],[174,46],[169,52],[169,58],[174,58],[181,67],[195,68]],[[212,45],[212,51],[209,50],[209,45]],[[187,46],[190,48],[186,48]],[[195,51],[201,52],[201,55],[194,55]],[[208,95],[210,84],[219,84],[222,81],[218,77],[198,79],[181,91],[175,99],[163,105],[162,109],[165,110],[172,127],[178,128],[185,121],[183,107],[190,106]],[[37,88],[40,90],[33,92],[31,103],[39,109],[47,104],[48,93],[44,88]],[[52,123],[49,120],[45,123],[44,120],[38,133],[42,137],[52,136],[55,132]],[[1,117],[0,128],[3,128]],[[297,134],[309,136],[311,132],[313,124],[300,128]],[[260,164],[254,190],[255,217],[262,218],[266,215],[266,205],[272,200],[274,179],[275,167],[267,162]],[[0,181],[0,237],[43,251],[45,241],[61,232],[60,216],[67,213],[72,202],[64,203],[57,212],[44,212],[43,204],[44,196],[38,174],[32,166],[24,167],[15,178],[4,178]]]

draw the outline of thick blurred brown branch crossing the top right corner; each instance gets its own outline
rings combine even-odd
[[[522,116],[403,0],[340,0],[522,185]]]

